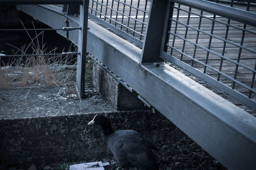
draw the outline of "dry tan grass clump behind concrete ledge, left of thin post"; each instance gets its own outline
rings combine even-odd
[[[17,49],[16,54],[27,54],[32,49],[33,54],[56,53],[56,48],[46,52],[44,31],[35,37],[28,33],[31,43]],[[68,50],[70,51],[70,49]],[[0,89],[31,86],[68,86],[76,78],[76,57],[71,55],[39,55],[12,59],[12,62],[2,63],[0,67]]]

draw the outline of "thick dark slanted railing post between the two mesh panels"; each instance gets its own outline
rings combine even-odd
[[[170,2],[152,0],[148,16],[145,40],[141,53],[141,63],[162,62],[160,53],[165,41],[166,28],[170,18]]]

